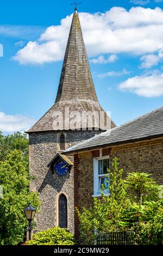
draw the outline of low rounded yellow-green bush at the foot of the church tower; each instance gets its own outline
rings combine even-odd
[[[26,245],[74,245],[74,236],[68,229],[54,227],[34,234]]]

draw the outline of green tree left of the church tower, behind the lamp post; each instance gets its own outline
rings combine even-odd
[[[17,144],[12,143],[13,147],[14,143]],[[29,202],[37,210],[40,205],[37,193],[29,193],[30,179],[24,150],[12,151],[10,148],[9,151],[7,154],[4,150],[7,155],[3,154],[4,160],[0,161],[0,185],[3,187],[3,197],[0,199],[0,245],[16,245],[23,241],[24,229],[28,224],[23,209]]]

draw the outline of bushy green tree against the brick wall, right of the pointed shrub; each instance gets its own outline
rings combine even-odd
[[[124,214],[128,227],[134,229],[144,245],[157,245],[162,240],[163,201],[159,185],[147,173],[128,173],[126,178],[130,208]]]

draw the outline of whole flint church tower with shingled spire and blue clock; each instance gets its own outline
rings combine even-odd
[[[102,112],[86,54],[77,8],[74,11],[64,63],[54,105],[27,131],[29,134],[29,170],[35,176],[30,191],[38,191],[41,210],[37,229],[54,226],[74,231],[73,157],[62,151],[102,132],[82,113]],[[75,121],[72,120],[72,115]],[[106,114],[104,115],[106,118]],[[71,125],[73,126],[70,127]],[[111,127],[115,124],[110,120]]]

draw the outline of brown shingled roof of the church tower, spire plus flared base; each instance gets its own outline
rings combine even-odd
[[[65,122],[65,107],[69,107],[70,112],[78,111],[79,113],[103,111],[93,84],[77,9],[73,14],[55,103],[28,132],[64,130],[65,126],[63,129],[62,126],[54,129],[53,124],[55,112],[58,111],[62,113],[63,122]],[[92,124],[92,128],[95,126],[97,125]],[[115,124],[111,121],[111,127],[114,126]],[[86,128],[90,128],[88,124]]]

